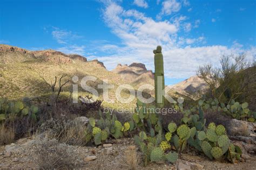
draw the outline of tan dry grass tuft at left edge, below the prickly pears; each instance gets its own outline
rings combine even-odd
[[[0,146],[8,145],[14,142],[15,130],[14,128],[6,128],[4,123],[0,125]]]

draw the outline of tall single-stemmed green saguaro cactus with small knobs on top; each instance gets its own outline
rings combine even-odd
[[[164,107],[164,60],[161,53],[161,46],[154,49],[154,91],[156,98],[156,108]]]

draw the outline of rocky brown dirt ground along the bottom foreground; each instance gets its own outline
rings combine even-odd
[[[131,138],[123,138],[119,140],[109,141],[110,147],[75,147],[77,154],[83,159],[83,165],[77,169],[129,169],[125,166],[124,153],[129,146],[134,145]],[[19,140],[16,144],[12,144],[14,149],[11,155],[6,155],[5,147],[0,147],[0,169],[37,169],[37,163],[33,161],[31,145],[33,139]],[[137,151],[140,158],[141,153]],[[86,161],[89,156],[96,156],[95,160]],[[194,151],[183,153],[180,155],[175,165],[162,162],[160,164],[150,163],[146,167],[143,166],[142,160],[139,160],[138,169],[182,169],[180,164],[196,165],[191,169],[256,169],[256,157],[251,155],[246,162],[238,162],[231,164],[228,162],[210,161],[204,155],[198,155]]]

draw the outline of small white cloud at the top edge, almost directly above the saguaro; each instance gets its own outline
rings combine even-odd
[[[176,0],[166,0],[162,3],[161,12],[157,15],[157,18],[160,19],[161,16],[169,16],[173,12],[178,12],[181,9],[181,4]]]

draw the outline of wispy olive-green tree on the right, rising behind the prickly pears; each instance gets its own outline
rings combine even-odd
[[[211,64],[199,67],[197,75],[206,82],[212,97],[225,98],[230,102],[248,87],[250,81],[245,81],[245,78],[248,80],[248,75],[245,76],[242,71],[250,67],[250,62],[246,61],[245,54],[231,54],[222,55],[220,65],[220,68],[213,68]]]

